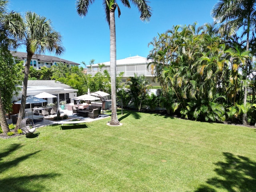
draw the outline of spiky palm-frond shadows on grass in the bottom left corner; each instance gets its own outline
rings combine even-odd
[[[20,162],[31,158],[34,154],[40,152],[40,150],[36,152],[32,152],[17,158],[13,158],[10,161],[4,161],[3,158],[10,155],[15,150],[20,150],[22,146],[20,144],[12,144],[7,148],[4,152],[0,152],[0,174],[9,168],[13,168],[17,166]],[[33,172],[33,164],[28,167],[31,172]],[[16,173],[14,173],[16,174]],[[3,175],[2,175],[3,176]],[[4,192],[40,192],[44,191],[45,187],[37,182],[36,180],[42,181],[43,179],[49,180],[56,176],[60,176],[60,174],[32,174],[30,176],[8,176],[8,178],[0,178],[0,191]]]

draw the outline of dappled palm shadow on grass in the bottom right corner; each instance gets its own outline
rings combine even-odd
[[[244,156],[223,153],[226,162],[215,163],[217,177],[210,178],[207,184],[200,186],[195,192],[217,192],[226,189],[229,192],[253,192],[256,189],[256,162]],[[214,187],[214,188],[213,188]]]

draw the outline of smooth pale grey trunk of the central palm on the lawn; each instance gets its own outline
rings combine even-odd
[[[116,22],[115,7],[110,10],[110,76],[111,76],[111,120],[110,125],[119,125],[116,113]]]

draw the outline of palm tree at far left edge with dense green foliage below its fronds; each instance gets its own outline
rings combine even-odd
[[[6,110],[10,111],[10,98],[12,98],[17,78],[12,78],[14,73],[13,59],[8,50],[16,46],[12,32],[16,32],[19,15],[14,12],[7,12],[7,0],[0,0],[0,62],[1,62],[1,88],[0,88],[0,124],[4,133],[9,132],[8,123],[5,118]]]

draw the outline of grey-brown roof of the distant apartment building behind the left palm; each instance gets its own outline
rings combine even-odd
[[[14,52],[12,51],[12,56],[16,57],[18,59],[26,59],[27,58],[27,53],[26,52]],[[49,55],[41,55],[41,54],[34,54],[32,56],[32,59],[36,59],[38,61],[42,61],[42,62],[62,62],[62,63],[66,63],[66,64],[75,64],[75,65],[80,65],[76,62],[72,62],[72,61],[68,61],[62,58],[58,58],[55,56],[49,56]]]

